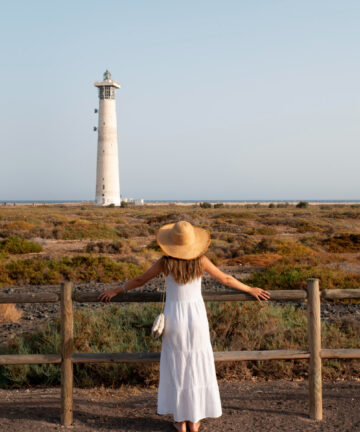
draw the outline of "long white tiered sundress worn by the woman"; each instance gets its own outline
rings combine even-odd
[[[157,413],[194,423],[221,416],[201,277],[186,284],[166,277],[164,315]]]

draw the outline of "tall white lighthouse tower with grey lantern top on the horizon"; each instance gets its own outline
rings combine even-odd
[[[99,89],[98,149],[96,170],[97,205],[121,205],[119,158],[117,143],[115,90],[120,88],[111,79],[109,71],[104,73],[104,81],[95,82]],[[96,130],[96,129],[95,129]]]

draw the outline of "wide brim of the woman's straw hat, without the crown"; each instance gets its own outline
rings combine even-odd
[[[194,228],[194,241],[189,245],[177,245],[171,240],[170,230],[175,223],[164,225],[156,234],[156,241],[166,255],[179,259],[195,259],[203,255],[210,245],[210,233],[204,228]]]

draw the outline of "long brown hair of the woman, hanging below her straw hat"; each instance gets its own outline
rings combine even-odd
[[[161,258],[162,272],[165,276],[171,274],[177,283],[186,284],[203,274],[201,259],[202,256],[192,260],[183,260],[163,255]]]

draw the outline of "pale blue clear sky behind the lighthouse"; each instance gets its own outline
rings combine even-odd
[[[3,0],[0,201],[360,199],[360,2]]]

